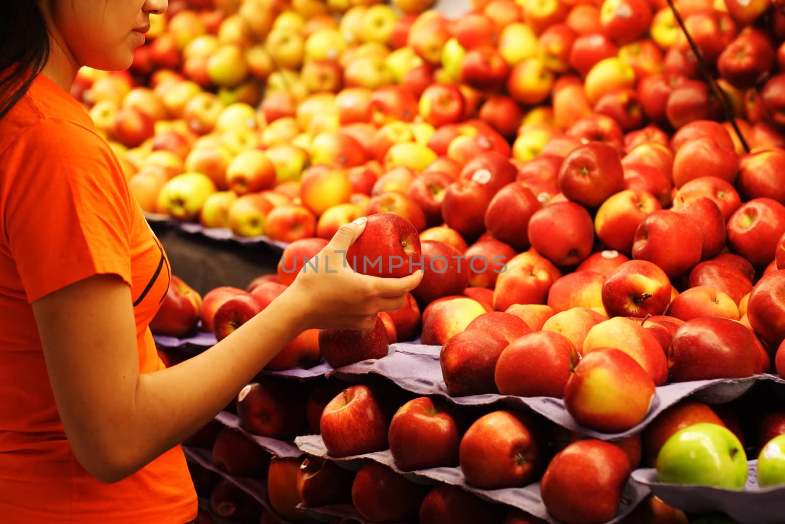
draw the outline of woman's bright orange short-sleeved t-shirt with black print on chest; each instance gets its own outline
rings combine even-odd
[[[142,373],[170,280],[116,157],[69,93],[38,75],[0,119],[0,521],[184,524],[197,498],[180,446],[114,484],[75,460],[31,302],[97,273],[131,286]]]

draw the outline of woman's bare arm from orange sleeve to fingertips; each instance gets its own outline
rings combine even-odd
[[[345,228],[323,254],[345,249],[361,230]],[[377,279],[348,268],[301,274],[210,350],[145,375],[127,284],[98,275],[53,292],[33,310],[71,449],[91,475],[119,481],[206,424],[300,332],[371,328],[375,313],[402,306],[421,277]]]

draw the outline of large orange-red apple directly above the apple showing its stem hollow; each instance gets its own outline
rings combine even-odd
[[[632,258],[655,263],[668,277],[695,267],[702,252],[703,232],[696,219],[686,214],[652,211],[635,230]]]

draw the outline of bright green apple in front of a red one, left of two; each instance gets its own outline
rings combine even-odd
[[[657,455],[657,478],[668,484],[742,489],[747,454],[728,428],[697,423],[677,431]]]

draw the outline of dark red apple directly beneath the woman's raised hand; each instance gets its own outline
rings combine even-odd
[[[382,317],[370,332],[358,329],[322,329],[319,331],[319,350],[324,361],[337,369],[369,358],[386,357],[389,352],[387,328]]]

